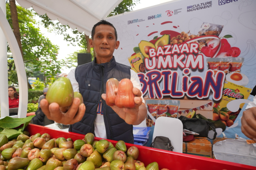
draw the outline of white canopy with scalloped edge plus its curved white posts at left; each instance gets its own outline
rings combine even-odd
[[[63,25],[68,24],[72,29],[78,29],[90,35],[95,23],[106,18],[122,0],[16,0],[24,8],[32,7],[38,14],[51,20],[59,20]],[[13,54],[17,68],[20,87],[20,103],[18,116],[26,117],[28,89],[26,72],[18,43],[12,29],[6,20],[5,0],[0,0],[0,105],[1,118],[9,115],[8,110],[8,70],[6,39]],[[1,31],[2,30],[2,31]]]

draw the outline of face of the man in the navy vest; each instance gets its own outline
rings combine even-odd
[[[118,49],[119,41],[116,41],[115,30],[110,25],[98,25],[95,27],[93,40],[89,40],[90,47],[94,47],[97,58],[112,58],[114,50]]]

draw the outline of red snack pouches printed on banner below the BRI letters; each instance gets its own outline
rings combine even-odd
[[[158,117],[175,117],[178,118],[180,108],[179,100],[146,100],[148,109],[147,126],[152,127]]]

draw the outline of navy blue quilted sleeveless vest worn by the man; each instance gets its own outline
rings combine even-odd
[[[75,77],[79,84],[79,91],[84,99],[86,111],[82,120],[70,126],[69,131],[80,134],[94,134],[94,120],[97,116],[96,112],[101,94],[106,93],[106,82],[110,78],[116,78],[118,81],[123,78],[130,79],[130,67],[116,63],[114,57],[109,63],[105,64],[97,64],[95,58],[91,63],[77,66]],[[102,111],[107,139],[122,140],[133,144],[133,126],[121,119],[111,107],[106,105],[104,100],[102,100]]]

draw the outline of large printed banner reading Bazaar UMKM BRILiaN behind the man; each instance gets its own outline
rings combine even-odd
[[[178,116],[246,138],[240,123],[256,85],[255,7],[256,0],[182,0],[106,20],[120,41],[116,61],[138,73],[145,100],[178,100]]]

